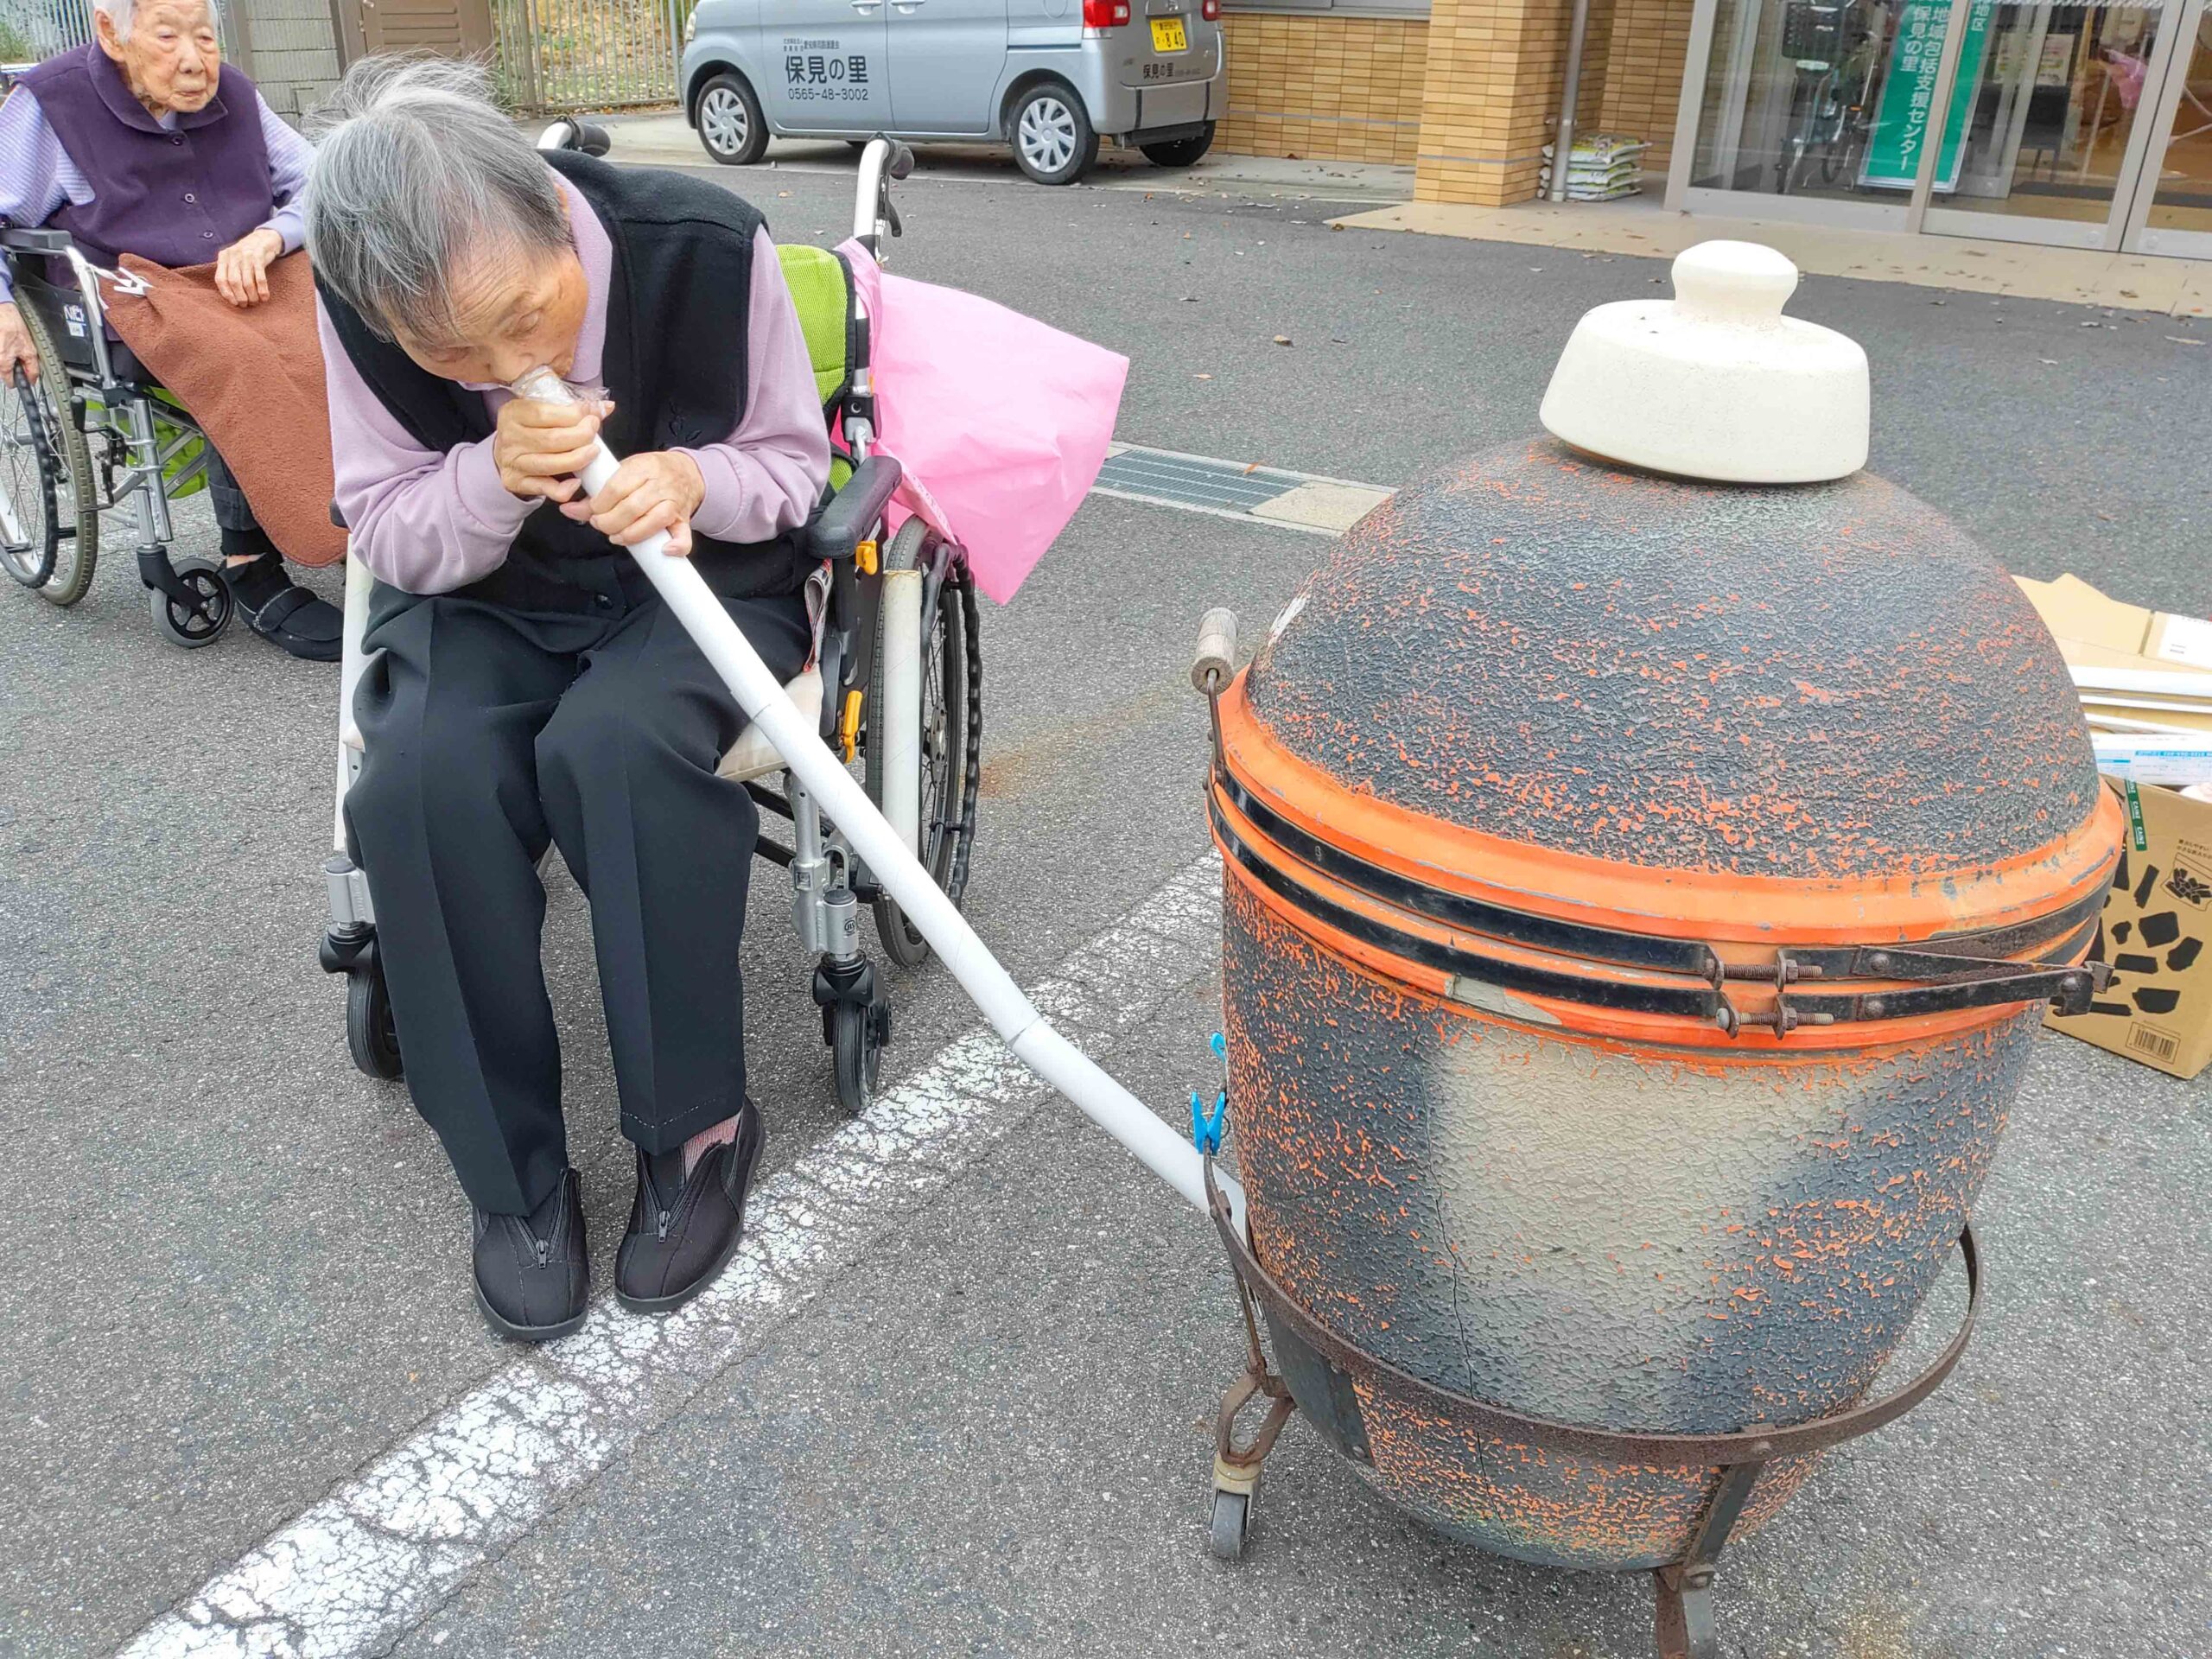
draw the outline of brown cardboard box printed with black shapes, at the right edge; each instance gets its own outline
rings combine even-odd
[[[2090,956],[2112,982],[2088,1013],[2044,1024],[2194,1077],[2212,1062],[2212,801],[2106,779],[2126,805],[2119,874]]]

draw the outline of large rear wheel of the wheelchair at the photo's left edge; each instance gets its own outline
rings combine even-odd
[[[69,369],[46,319],[35,305],[18,305],[15,314],[38,352],[38,383],[29,387],[29,396],[22,385],[7,389],[0,484],[22,520],[20,529],[29,533],[38,520],[38,531],[35,540],[0,533],[0,564],[38,597],[69,606],[93,586],[93,564],[100,560],[100,482],[69,389]]]

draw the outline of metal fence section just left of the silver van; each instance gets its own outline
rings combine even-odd
[[[513,108],[544,115],[672,104],[677,42],[695,2],[493,0],[500,91]]]

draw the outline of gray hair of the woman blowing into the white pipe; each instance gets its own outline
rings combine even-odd
[[[383,338],[456,338],[451,279],[471,254],[571,246],[560,184],[482,64],[363,58],[307,131],[307,259]]]

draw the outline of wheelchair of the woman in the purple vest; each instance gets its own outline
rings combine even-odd
[[[0,568],[55,606],[93,586],[100,522],[128,509],[153,626],[173,646],[212,646],[230,626],[215,560],[173,560],[170,504],[208,480],[208,445],[128,345],[111,341],[100,283],[144,294],[128,272],[91,263],[64,230],[0,230],[38,380],[0,387]],[[75,288],[51,281],[55,265]]]

